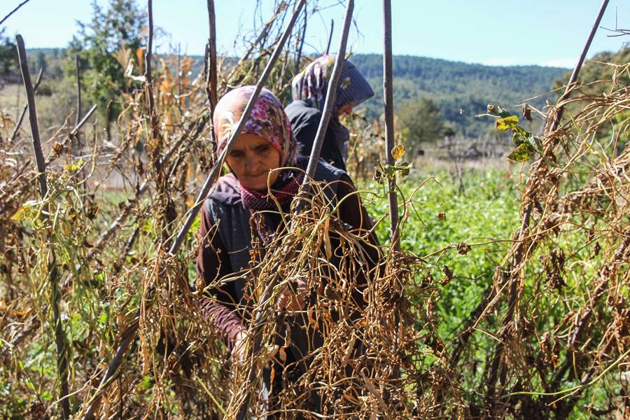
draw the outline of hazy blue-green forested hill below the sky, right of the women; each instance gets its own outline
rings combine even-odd
[[[351,60],[370,81],[375,95],[365,102],[367,116],[382,113],[383,57],[353,55]],[[455,132],[471,137],[485,134],[492,124],[475,115],[489,102],[512,107],[548,92],[567,69],[542,66],[484,66],[444,59],[395,55],[393,93],[396,108],[418,97],[433,99]],[[535,104],[542,106],[544,99]]]

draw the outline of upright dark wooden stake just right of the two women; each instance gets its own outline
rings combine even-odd
[[[391,51],[391,0],[383,0],[383,97],[385,103],[385,162],[394,165],[391,155],[394,146],[393,133],[393,87]],[[389,199],[389,220],[391,222],[391,243],[394,251],[400,251],[398,231],[398,197],[396,196],[395,176],[387,179]]]

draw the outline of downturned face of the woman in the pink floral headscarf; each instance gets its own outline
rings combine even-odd
[[[241,134],[225,157],[241,184],[251,190],[266,190],[267,176],[273,185],[279,172],[280,152],[266,139],[256,134]]]

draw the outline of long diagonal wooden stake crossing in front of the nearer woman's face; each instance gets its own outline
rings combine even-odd
[[[297,16],[300,14],[300,10],[302,9],[302,6],[304,6],[305,2],[306,0],[300,0],[300,3],[298,3],[295,9],[295,12],[293,13],[293,17],[291,18],[288,24],[288,27],[286,28],[286,30],[284,31],[284,34],[280,38],[280,41],[278,45],[276,46],[274,53],[269,58],[269,62],[267,62],[265,71],[262,72],[262,75],[260,76],[260,80],[258,80],[258,83],[255,86],[255,89],[251,95],[251,98],[249,99],[249,102],[247,102],[247,105],[245,106],[245,109],[243,111],[243,115],[241,116],[241,120],[239,121],[239,124],[235,128],[234,132],[232,132],[232,137],[230,137],[230,139],[228,140],[227,146],[225,146],[225,148],[221,152],[221,155],[218,157],[217,161],[214,163],[214,167],[212,167],[210,174],[208,175],[206,181],[204,182],[204,185],[202,186],[202,190],[197,196],[195,205],[193,205],[190,211],[188,211],[188,218],[186,218],[186,221],[184,222],[183,226],[179,230],[179,233],[177,234],[176,239],[174,240],[171,248],[169,249],[170,255],[175,255],[175,253],[179,250],[179,247],[181,246],[181,244],[183,244],[183,240],[186,238],[186,234],[188,233],[190,226],[193,225],[193,222],[195,221],[195,218],[197,217],[197,213],[199,212],[201,205],[206,200],[206,197],[210,191],[210,188],[214,185],[214,183],[216,182],[216,179],[218,179],[218,176],[221,174],[221,167],[223,166],[223,160],[225,160],[225,156],[228,154],[228,150],[232,147],[232,145],[235,143],[235,141],[239,137],[239,134],[242,128],[244,127],[247,121],[247,118],[249,117],[251,113],[251,110],[253,109],[253,105],[258,99],[258,95],[260,94],[262,87],[267,82],[267,78],[269,78],[269,74],[271,73],[275,62],[278,59],[280,52],[284,44],[286,43],[286,39],[290,35],[291,29],[293,28],[293,25],[295,24],[295,20],[297,20]],[[149,292],[148,295],[151,295],[151,292]],[[151,303],[149,302],[148,304],[150,305]],[[130,325],[121,335],[122,339],[120,341],[120,344],[118,345],[118,348],[116,349],[116,353],[114,353],[111,363],[109,364],[109,367],[107,368],[105,375],[103,379],[101,380],[101,383],[99,384],[97,394],[92,397],[92,400],[90,400],[89,402],[90,404],[89,407],[87,407],[85,414],[83,414],[83,420],[94,418],[94,412],[99,406],[99,402],[102,398],[103,391],[107,388],[107,386],[109,386],[109,384],[111,384],[111,381],[114,375],[116,374],[116,372],[118,372],[120,364],[123,362],[123,357],[125,356],[127,349],[129,349],[130,344],[137,337],[137,332],[139,328],[139,313],[140,312],[138,311],[136,316],[134,317],[134,320],[130,323]]]

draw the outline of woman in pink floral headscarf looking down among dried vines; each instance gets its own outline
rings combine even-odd
[[[240,87],[225,94],[218,102],[214,112],[217,153],[225,148],[253,90],[253,86]],[[307,158],[297,157],[288,118],[279,100],[269,90],[260,93],[244,129],[227,153],[226,162],[230,173],[218,180],[202,208],[197,274],[207,296],[202,301],[204,315],[231,349],[232,357],[241,360],[251,319],[251,306],[244,292],[245,274],[251,272],[252,260],[249,253],[252,248],[250,219],[254,214],[262,216],[263,228],[269,233],[278,232],[283,227],[281,212],[290,211],[290,202],[303,179],[300,168],[307,166]],[[273,170],[278,168],[285,169]],[[328,182],[327,189],[339,204],[337,217],[346,223],[347,230],[361,234],[372,228],[353,183],[344,172],[319,162],[315,179]],[[365,246],[365,253],[368,260],[375,263],[379,257],[377,241],[372,235],[370,241],[372,244]],[[339,246],[333,235],[331,243],[333,248]],[[337,258],[333,263],[339,262],[340,254],[332,252],[331,260]],[[239,272],[244,275],[239,276]],[[235,280],[222,282],[221,287],[214,286],[218,279],[228,276]],[[287,306],[289,302],[293,300],[280,302],[279,306]],[[307,337],[300,341],[300,334],[294,334],[293,326],[291,328],[293,339],[286,351],[286,360],[272,362],[276,363],[276,372],[291,363],[293,366],[305,363],[304,356],[313,350],[314,344],[309,344]],[[305,368],[302,365],[302,372]],[[296,372],[299,374],[300,370]],[[279,381],[286,375],[276,373],[275,377]],[[274,385],[274,388],[283,388],[283,384]]]

